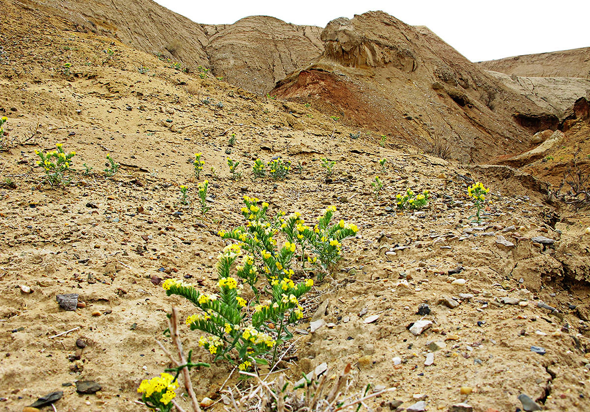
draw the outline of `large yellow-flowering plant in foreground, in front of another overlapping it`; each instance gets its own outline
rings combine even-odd
[[[240,256],[242,264],[236,265]],[[231,244],[218,258],[218,294],[199,292],[194,286],[176,279],[167,279],[162,284],[168,296],[183,296],[198,308],[198,312],[186,318],[185,323],[193,331],[205,332],[199,338],[199,346],[214,355],[214,361],[224,359],[234,363],[235,358],[240,370],[249,370],[252,362],[266,364],[261,356],[271,351],[274,362],[277,345],[293,337],[288,326],[303,318],[298,299],[313,286],[312,279],[298,283],[290,276],[281,281],[272,279],[268,282],[270,299],[260,302],[256,298],[257,304],[252,308],[240,296],[242,285],[238,284],[238,279],[247,279],[255,288],[258,276],[253,263],[254,257],[250,253]]]

